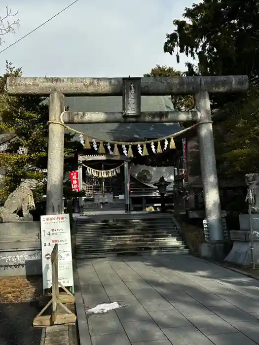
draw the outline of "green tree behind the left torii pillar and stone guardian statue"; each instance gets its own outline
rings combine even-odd
[[[6,171],[0,189],[0,200],[3,202],[7,198],[21,178],[35,178],[39,182],[34,193],[35,201],[40,203],[46,191],[48,99],[7,95],[6,78],[21,75],[21,68],[17,69],[6,62],[6,72],[0,77],[0,133],[16,134],[7,151],[0,154],[0,167]],[[76,167],[74,153],[81,146],[73,138],[74,135],[65,134],[65,172]],[[65,186],[64,192],[72,196],[74,192],[71,192],[69,184],[70,182]]]

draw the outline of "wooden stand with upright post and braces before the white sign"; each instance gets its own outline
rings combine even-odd
[[[49,327],[61,324],[74,325],[76,321],[75,314],[70,311],[59,298],[59,287],[61,287],[68,295],[72,293],[58,281],[58,244],[56,243],[51,252],[51,268],[52,268],[52,298],[46,306],[37,314],[33,321],[34,327]],[[74,296],[73,296],[74,298]],[[44,311],[52,304],[52,312],[50,315],[42,315]],[[65,311],[57,312],[57,307]]]

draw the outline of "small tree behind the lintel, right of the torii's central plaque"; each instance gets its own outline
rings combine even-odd
[[[145,77],[177,77],[185,76],[185,72],[175,70],[172,67],[156,65],[150,73],[144,74]],[[194,99],[191,95],[178,96],[172,95],[172,103],[176,111],[188,111],[194,109]]]

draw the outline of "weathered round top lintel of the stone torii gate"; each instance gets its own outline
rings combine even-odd
[[[123,79],[131,78],[8,77],[6,86],[8,94],[16,96],[49,96],[54,92],[65,96],[122,96]],[[143,96],[195,94],[205,90],[209,93],[245,92],[249,85],[247,75],[139,79]]]

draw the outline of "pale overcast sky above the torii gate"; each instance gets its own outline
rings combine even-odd
[[[4,0],[18,11],[20,28],[3,36],[1,49],[26,35],[73,0]],[[173,31],[194,0],[79,0],[35,33],[0,53],[23,67],[24,76],[141,76],[156,64],[185,70],[186,58],[163,52],[165,35]]]

